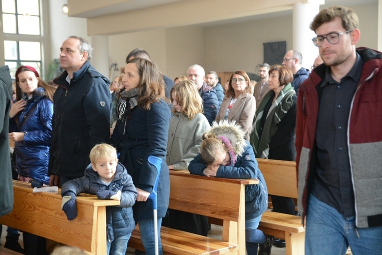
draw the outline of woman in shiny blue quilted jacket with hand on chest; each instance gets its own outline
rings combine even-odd
[[[9,139],[14,141],[17,178],[48,185],[55,87],[45,83],[36,69],[28,65],[16,70],[15,79],[16,102],[9,111]],[[18,238],[18,234],[13,235]],[[11,240],[9,231],[8,239]],[[23,232],[23,241],[25,254],[46,254],[45,238]]]

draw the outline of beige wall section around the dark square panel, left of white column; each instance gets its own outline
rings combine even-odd
[[[264,42],[287,41],[292,47],[292,16],[206,27],[205,67],[215,71],[255,72],[263,63]]]

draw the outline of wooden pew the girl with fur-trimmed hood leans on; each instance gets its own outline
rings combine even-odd
[[[257,183],[253,179],[206,177],[170,170],[169,208],[222,219],[223,234],[222,240],[217,240],[162,226],[163,252],[245,255],[245,185]],[[138,227],[128,246],[143,250]]]

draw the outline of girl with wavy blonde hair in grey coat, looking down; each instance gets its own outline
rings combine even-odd
[[[210,127],[203,114],[203,102],[192,80],[180,81],[170,91],[173,104],[168,129],[167,157],[169,169],[187,169],[190,161],[199,153],[202,134]],[[206,216],[168,210],[167,225],[179,230],[207,236]]]

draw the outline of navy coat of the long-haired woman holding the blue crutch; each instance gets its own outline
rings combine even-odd
[[[137,188],[151,192],[157,170],[147,158],[150,155],[162,158],[158,182],[158,217],[164,217],[170,198],[170,175],[166,164],[166,149],[170,109],[161,99],[151,104],[150,110],[136,106],[125,121],[117,120],[111,135],[111,143],[120,152],[119,161],[126,166]],[[153,218],[150,199],[136,202],[133,206],[136,221]]]

